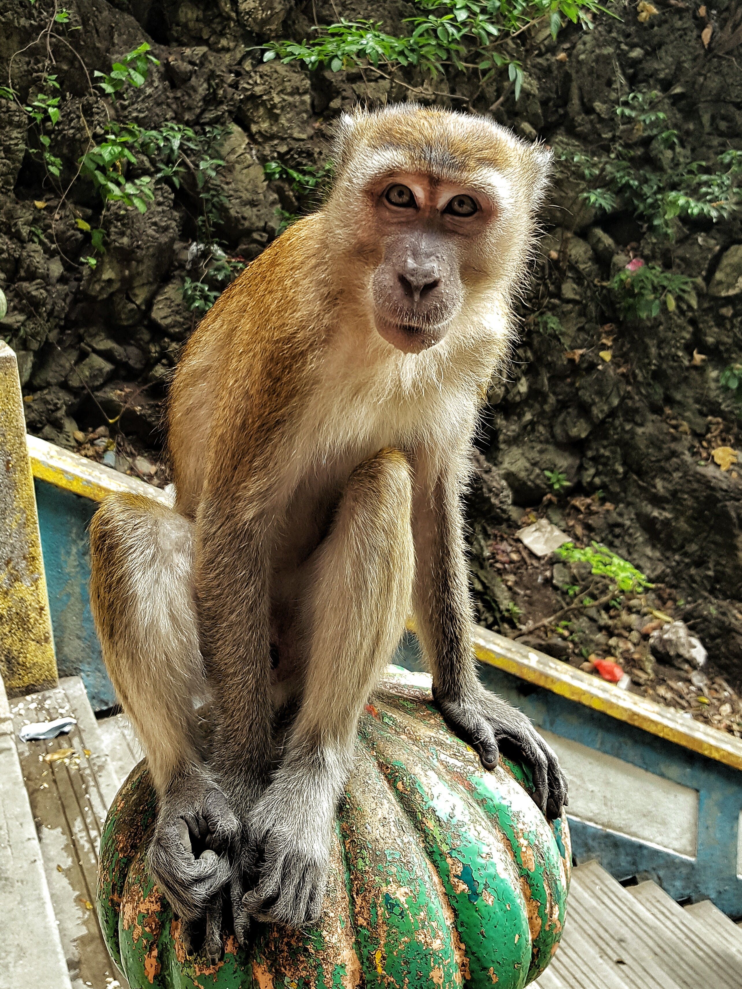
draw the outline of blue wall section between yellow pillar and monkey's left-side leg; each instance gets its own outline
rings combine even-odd
[[[93,626],[88,597],[88,525],[95,501],[35,481],[56,665],[60,676],[82,676],[93,710],[116,703]]]

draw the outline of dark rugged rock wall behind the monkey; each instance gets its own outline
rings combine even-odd
[[[717,7],[714,30],[723,43],[736,8]],[[51,44],[63,111],[51,150],[62,160],[62,186],[72,183],[61,205],[31,151],[25,115],[0,100],[0,287],[9,302],[0,335],[18,354],[29,429],[74,445],[80,427],[123,412],[117,427],[156,446],[167,381],[195,323],[181,297],[196,237],[193,183],[157,183],[143,216],[109,206],[106,253],[92,270],[80,264],[90,243],[77,220],[100,216],[90,185],[72,182],[87,130],[92,123],[97,139],[105,124],[102,101],[91,96],[94,71],[110,71],[148,40],[159,65],[144,86],[122,91],[110,112],[147,128],[174,120],[201,131],[230,129],[220,145],[227,203],[218,233],[245,260],[277,234],[277,211],[298,208],[291,182],[267,181],[263,164],[321,167],[341,109],[413,95],[492,113],[527,139],[551,144],[557,162],[521,339],[491,388],[478,441],[474,566],[487,565],[487,533],[541,504],[551,491],[544,472],[559,472],[568,486],[549,506],[552,520],[563,518],[568,497],[602,492],[615,510],[586,516],[585,538],[603,540],[677,588],[695,609],[686,617],[711,657],[739,680],[742,481],[733,467],[722,471],[709,459],[714,447],[734,447],[739,437],[734,394],[720,383],[742,353],[739,214],[717,224],[676,221],[669,240],[625,204],[597,215],[563,160],[608,149],[621,125],[619,100],[639,89],[664,94],[667,126],[679,135],[674,149],[629,135],[647,167],[667,171],[742,148],[739,47],[706,49],[696,13],[676,0],[658,3],[643,23],[622,7],[622,20],[602,17],[592,32],[568,26],[556,43],[537,26],[508,43],[525,67],[515,102],[507,76],[480,84],[451,70],[431,83],[410,72],[403,84],[372,71],[263,63],[255,49],[270,39],[311,37],[315,19],[328,24],[338,16],[402,32],[415,8],[400,0],[72,0],[68,9],[69,23],[81,28],[74,45]],[[22,102],[39,84],[46,45],[32,43],[49,10],[47,0],[0,0],[2,75],[11,63]],[[138,158],[132,175],[147,173]],[[605,286],[631,256],[695,279],[696,305],[622,320]]]

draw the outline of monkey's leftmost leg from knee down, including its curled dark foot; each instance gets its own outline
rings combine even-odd
[[[194,697],[204,673],[191,597],[191,526],[139,495],[113,495],[91,523],[90,555],[103,658],[157,791],[149,868],[176,912],[193,921],[229,881],[223,853],[237,822],[198,752]],[[197,857],[194,848],[212,851]]]

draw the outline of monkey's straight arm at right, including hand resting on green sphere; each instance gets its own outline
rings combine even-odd
[[[432,477],[426,476],[426,467],[418,461],[414,607],[435,702],[449,727],[476,749],[486,768],[498,764],[501,749],[529,764],[534,801],[547,817],[558,817],[567,800],[567,781],[556,756],[524,714],[477,678],[455,465]]]

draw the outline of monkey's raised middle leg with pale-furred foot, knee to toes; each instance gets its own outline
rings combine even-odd
[[[263,864],[239,926],[249,915],[291,926],[320,916],[358,717],[411,605],[411,498],[406,459],[383,450],[351,474],[317,550],[304,698],[283,763],[250,817]]]

